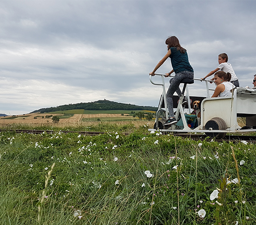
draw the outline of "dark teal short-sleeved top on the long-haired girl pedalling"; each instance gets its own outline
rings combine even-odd
[[[181,53],[176,47],[169,49],[171,49],[170,58],[172,62],[172,69],[175,73],[180,73],[182,71],[194,72],[192,66],[189,64],[187,52]]]

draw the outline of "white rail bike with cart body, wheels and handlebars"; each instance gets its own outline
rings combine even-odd
[[[165,74],[155,73],[155,75],[150,75],[150,82],[161,86],[162,94],[156,111],[154,128],[148,129],[149,131],[202,132],[211,138],[219,139],[224,138],[227,133],[256,132],[256,89],[234,86],[232,96],[211,98],[210,91],[215,90],[215,88],[209,88],[209,84],[213,83],[212,80],[201,80],[199,78],[183,79],[181,81],[183,83],[181,96],[173,96],[173,107],[176,108],[175,118],[178,123],[165,126],[165,121],[168,119]],[[159,76],[161,82],[156,83],[152,80],[153,77]],[[174,75],[171,75],[171,77],[174,77]],[[189,96],[189,86],[192,86],[195,81],[205,82],[206,97]],[[187,106],[182,105],[183,98],[188,102]],[[195,100],[199,100],[201,104],[200,118],[191,114],[191,104]],[[246,118],[244,127],[238,126],[238,117]]]

